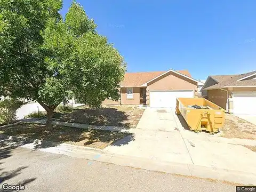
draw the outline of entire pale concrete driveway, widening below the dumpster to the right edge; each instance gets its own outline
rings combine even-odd
[[[183,117],[175,115],[172,109],[147,108],[136,129],[130,132],[133,141],[127,143],[130,138],[124,138],[105,150],[159,161],[256,172],[256,153],[243,146],[256,146],[255,140],[190,132]]]

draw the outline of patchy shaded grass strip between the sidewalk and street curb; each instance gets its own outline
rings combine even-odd
[[[52,130],[48,130],[45,125],[36,123],[21,123],[4,127],[1,128],[0,134],[61,143],[65,142],[99,149],[103,149],[115,141],[130,135],[127,132],[76,129],[66,126],[54,126]]]

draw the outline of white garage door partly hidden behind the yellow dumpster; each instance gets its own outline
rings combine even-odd
[[[149,106],[156,108],[175,108],[176,98],[194,98],[193,90],[150,91]]]

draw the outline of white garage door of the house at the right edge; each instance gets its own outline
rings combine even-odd
[[[256,93],[233,93],[233,113],[256,115]]]

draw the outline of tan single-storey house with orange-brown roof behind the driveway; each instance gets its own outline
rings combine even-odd
[[[121,99],[104,104],[175,107],[177,97],[194,98],[197,84],[187,70],[126,73],[121,82]]]

